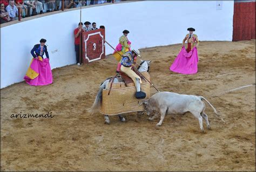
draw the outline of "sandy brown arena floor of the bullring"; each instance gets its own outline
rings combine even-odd
[[[195,75],[169,71],[180,44],[141,50],[160,91],[203,95],[223,114],[226,123],[206,105],[205,134],[190,113],[167,115],[159,128],[146,115],[105,125],[102,114],[87,113],[100,82],[115,74],[112,56],[54,69],[49,86],[2,89],[2,170],[254,170],[255,86],[228,92],[255,83],[254,41],[201,42]],[[10,118],[47,112],[55,116]]]

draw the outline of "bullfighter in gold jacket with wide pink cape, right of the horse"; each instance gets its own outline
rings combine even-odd
[[[173,64],[170,66],[170,70],[173,72],[181,73],[181,74],[195,74],[197,73],[197,63],[198,63],[198,54],[197,54],[197,46],[199,45],[199,40],[196,34],[193,34],[195,31],[194,28],[190,27],[187,29],[190,31],[189,34],[183,39],[183,46],[177,56],[177,58],[173,61]],[[185,49],[185,42],[187,40],[187,47]],[[194,46],[194,43],[197,43]]]

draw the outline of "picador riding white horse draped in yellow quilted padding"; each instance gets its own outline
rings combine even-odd
[[[150,97],[150,84],[147,82],[150,80],[150,76],[147,72],[151,61],[142,60],[139,67],[135,68],[137,56],[141,57],[139,50],[136,49],[122,54],[119,74],[116,77],[107,78],[100,84],[98,94],[89,112],[93,114],[100,111],[105,115],[107,124],[110,123],[109,115],[118,115],[120,121],[125,121],[120,114],[144,111],[144,106],[140,102]]]

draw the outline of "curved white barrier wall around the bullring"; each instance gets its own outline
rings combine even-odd
[[[220,4],[217,10],[217,4]],[[52,68],[76,63],[73,30],[79,10],[57,13],[1,28],[1,88],[23,81],[32,58],[30,50],[41,38],[47,40]],[[187,27],[194,27],[199,40],[232,40],[232,1],[143,1],[82,9],[82,22],[106,28],[106,40],[116,46],[122,31],[132,47],[181,43]],[[106,45],[106,54],[113,50]]]

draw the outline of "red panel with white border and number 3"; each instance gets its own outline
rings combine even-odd
[[[91,63],[92,61],[105,58],[105,29],[97,29],[82,33],[83,62]]]

